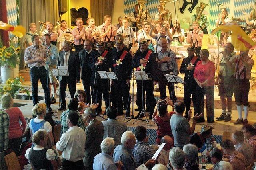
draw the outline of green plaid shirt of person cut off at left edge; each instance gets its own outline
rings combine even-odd
[[[8,148],[9,115],[0,109],[0,152]]]

